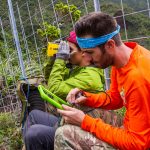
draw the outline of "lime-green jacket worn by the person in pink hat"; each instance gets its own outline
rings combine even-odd
[[[53,67],[49,65],[48,68],[48,89],[63,99],[73,88],[92,93],[103,90],[104,75],[103,70],[99,68],[87,66],[68,69],[62,59],[56,59]]]

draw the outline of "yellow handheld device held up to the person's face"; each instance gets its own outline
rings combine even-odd
[[[48,45],[47,45],[47,56],[53,56],[54,54],[56,54],[57,51],[58,51],[58,47],[59,47],[58,44],[48,42]]]

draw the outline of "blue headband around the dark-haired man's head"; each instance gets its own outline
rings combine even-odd
[[[94,48],[98,45],[104,44],[105,42],[107,42],[108,40],[110,40],[112,37],[114,37],[116,34],[118,34],[120,32],[120,26],[117,25],[117,29],[116,31],[104,35],[104,36],[100,36],[97,38],[79,38],[77,37],[77,42],[80,48]]]

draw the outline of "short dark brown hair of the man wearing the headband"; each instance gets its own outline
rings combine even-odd
[[[79,19],[75,24],[75,32],[78,37],[91,35],[99,37],[109,34],[117,29],[116,20],[110,15],[102,12],[92,12]],[[120,34],[112,38],[116,45],[121,45]]]

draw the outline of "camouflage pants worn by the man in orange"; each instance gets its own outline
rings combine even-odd
[[[121,127],[122,117],[114,111],[99,110],[101,118],[107,124]],[[64,125],[56,130],[55,150],[115,150],[111,145],[99,140],[78,126]]]

